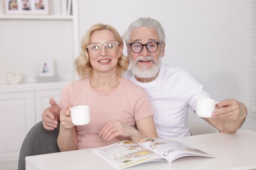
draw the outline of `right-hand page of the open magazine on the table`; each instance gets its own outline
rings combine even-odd
[[[159,138],[146,138],[142,139],[139,144],[152,150],[153,152],[160,154],[160,156],[166,158],[169,163],[184,156],[215,157],[196,148],[188,147],[179,141],[169,141]]]

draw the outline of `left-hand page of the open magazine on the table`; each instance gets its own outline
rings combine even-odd
[[[121,141],[94,150],[118,169],[131,167],[148,161],[166,161],[158,154],[133,141]]]

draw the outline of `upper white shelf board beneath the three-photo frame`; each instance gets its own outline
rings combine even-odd
[[[2,15],[0,20],[73,20],[73,16],[61,15]]]

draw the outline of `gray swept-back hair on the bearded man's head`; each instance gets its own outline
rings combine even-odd
[[[149,17],[143,17],[132,22],[129,25],[128,30],[123,34],[123,41],[125,41],[126,44],[128,44],[131,39],[131,32],[139,27],[155,28],[158,31],[158,37],[160,38],[160,42],[165,42],[165,31],[163,30],[160,22]]]

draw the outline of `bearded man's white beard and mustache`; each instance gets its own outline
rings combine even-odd
[[[151,69],[146,69],[146,67],[143,67],[142,69],[140,69],[139,67],[137,67],[137,62],[139,62],[140,59],[152,60],[154,65],[152,66]],[[159,73],[160,67],[161,67],[161,57],[159,57],[157,60],[154,60],[154,58],[151,56],[146,56],[146,57],[140,56],[135,61],[132,61],[130,59],[130,62],[131,62],[131,72],[133,73],[133,75],[139,78],[152,78]]]

